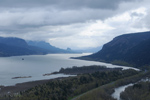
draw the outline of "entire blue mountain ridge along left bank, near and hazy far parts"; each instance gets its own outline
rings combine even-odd
[[[47,47],[47,48],[46,48]],[[41,55],[48,53],[75,53],[51,46],[46,42],[29,45],[24,39],[16,37],[0,37],[0,57],[20,55]]]

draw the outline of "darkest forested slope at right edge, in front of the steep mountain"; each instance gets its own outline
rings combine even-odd
[[[136,66],[150,65],[150,39],[144,40],[128,51],[126,61]]]

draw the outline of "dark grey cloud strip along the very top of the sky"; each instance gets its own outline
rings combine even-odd
[[[60,9],[115,9],[121,2],[136,0],[0,0],[1,7],[58,7]]]

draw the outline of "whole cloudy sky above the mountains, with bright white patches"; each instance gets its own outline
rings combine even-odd
[[[66,49],[150,31],[150,0],[0,0],[0,36]]]

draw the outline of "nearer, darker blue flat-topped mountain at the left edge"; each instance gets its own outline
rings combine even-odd
[[[32,54],[46,54],[40,48],[29,46],[25,40],[14,37],[0,37],[0,56],[18,56]]]

